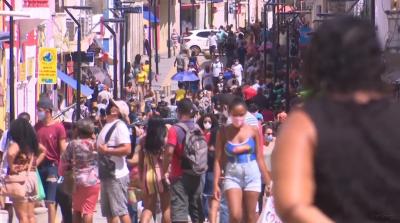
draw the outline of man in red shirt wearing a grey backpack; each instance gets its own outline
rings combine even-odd
[[[207,142],[200,127],[193,121],[193,103],[183,99],[178,103],[179,123],[168,131],[163,161],[165,181],[171,186],[172,222],[203,222],[201,194],[202,175],[207,170]]]

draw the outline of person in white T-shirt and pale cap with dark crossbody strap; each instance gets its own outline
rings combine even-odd
[[[131,153],[128,115],[129,107],[124,101],[110,100],[106,109],[106,124],[97,138],[99,155],[106,157],[115,167],[110,170],[99,165],[101,212],[108,222],[118,222],[118,219],[121,223],[131,222],[128,212],[129,169],[126,163],[126,156]],[[107,142],[106,135],[110,135]],[[105,171],[111,173],[102,177]]]

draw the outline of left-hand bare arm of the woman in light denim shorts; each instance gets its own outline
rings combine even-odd
[[[221,191],[219,187],[219,179],[221,177],[221,166],[222,166],[222,151],[225,144],[225,135],[221,129],[217,133],[217,142],[215,143],[215,158],[214,158],[214,199],[221,199]]]

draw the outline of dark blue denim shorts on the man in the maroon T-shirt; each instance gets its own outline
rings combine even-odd
[[[46,193],[46,201],[56,202],[58,167],[46,162],[39,167],[39,175]]]

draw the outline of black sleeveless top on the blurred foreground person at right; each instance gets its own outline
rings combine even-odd
[[[304,109],[317,130],[315,205],[336,222],[400,222],[400,105],[320,98]]]

